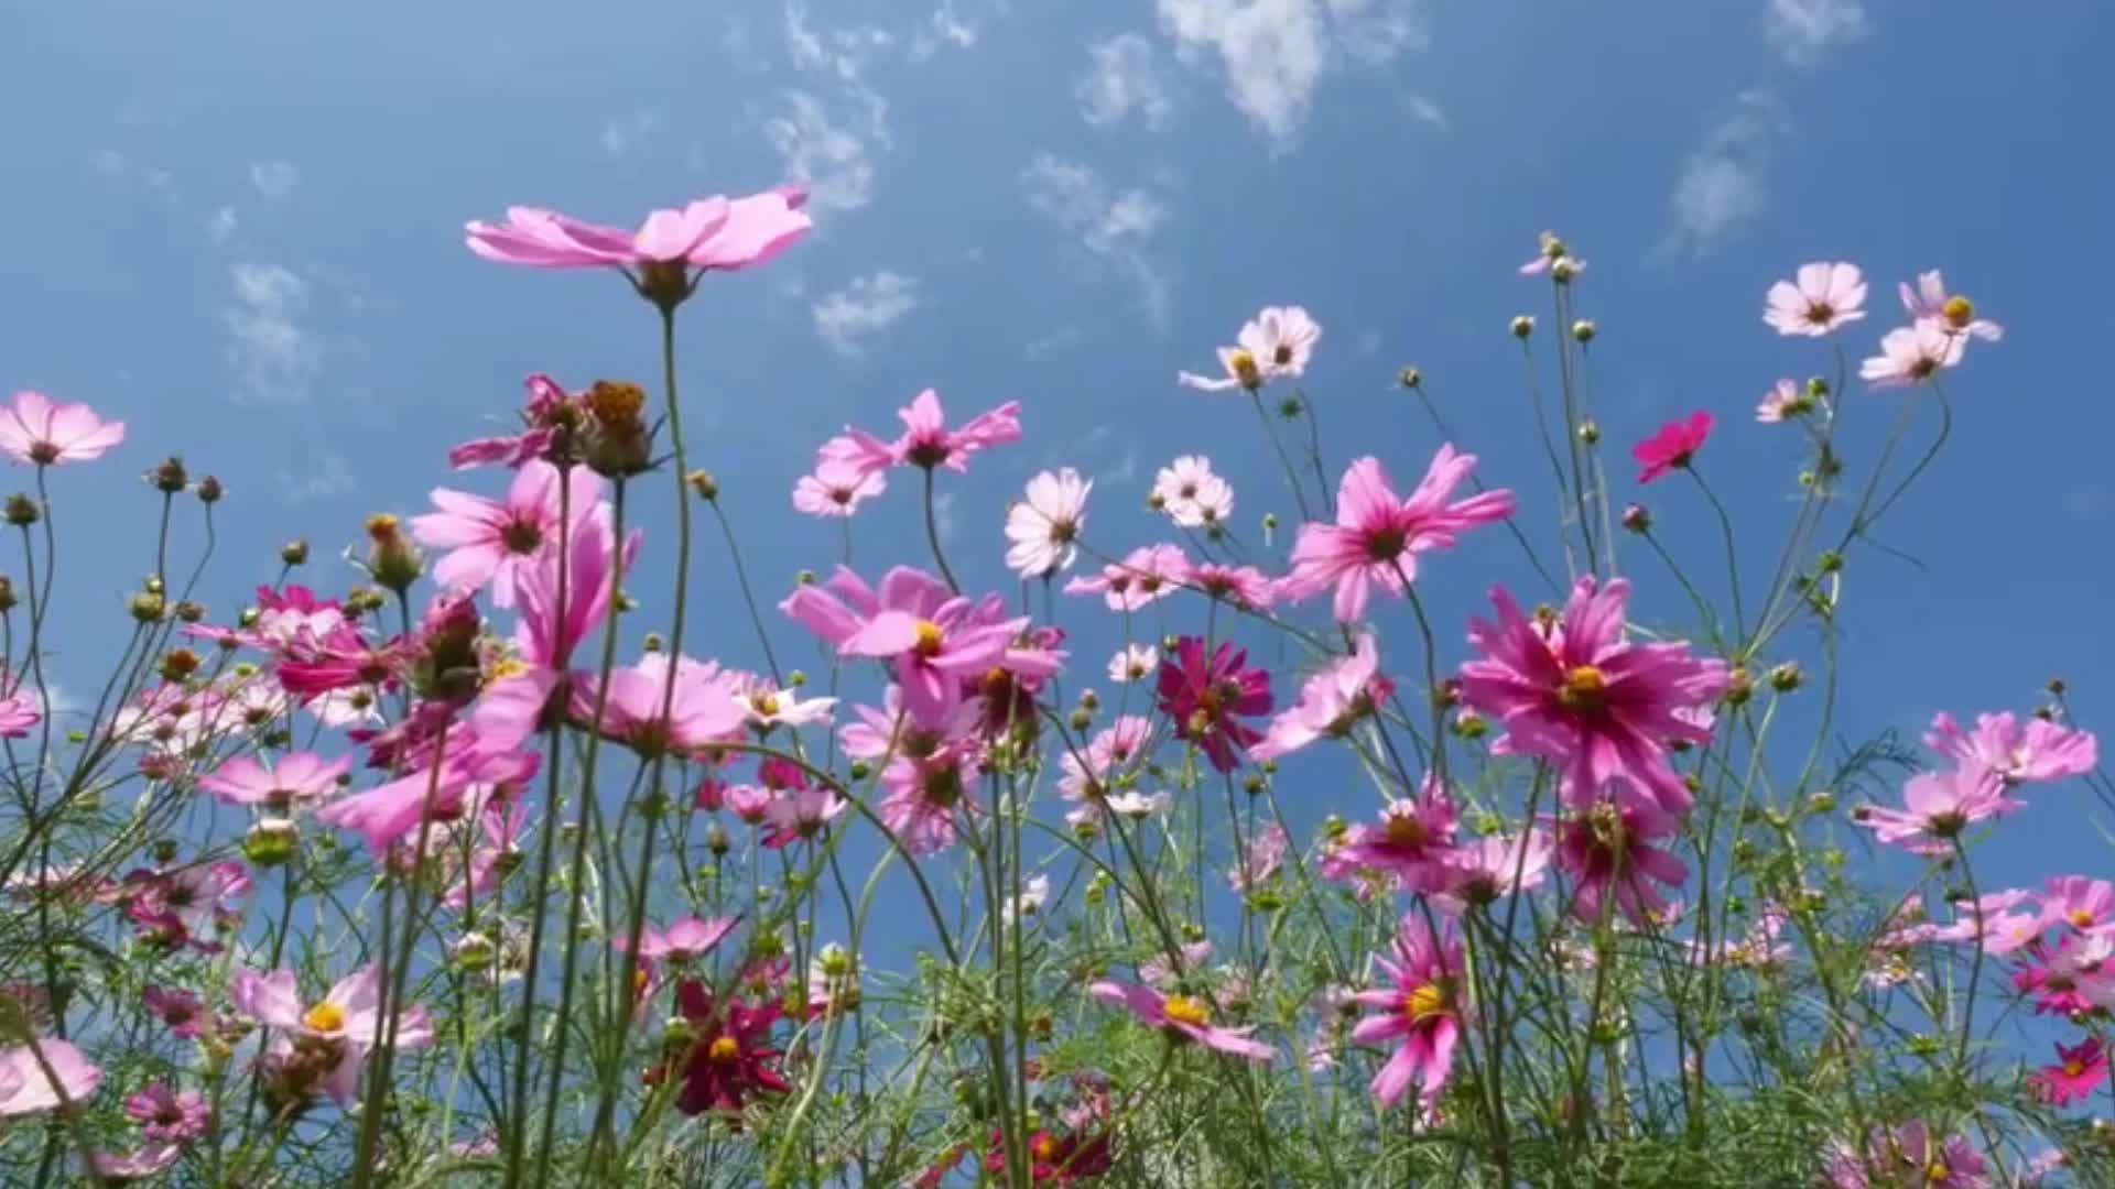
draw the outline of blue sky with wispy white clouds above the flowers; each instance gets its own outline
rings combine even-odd
[[[1237,478],[1244,523],[1286,512],[1248,413],[1172,383],[1267,303],[1326,326],[1311,391],[1332,465],[1377,451],[1421,470],[1432,432],[1392,387],[1415,362],[1485,474],[1544,508],[1506,322],[1546,315],[1512,269],[1552,226],[1593,262],[1580,303],[1612,444],[1715,410],[1705,468],[1760,569],[1796,463],[1749,410],[1827,360],[1760,324],[1766,286],[1808,258],[1861,262],[1876,290],[1842,339],[1855,360],[1891,324],[1893,279],[1944,267],[2011,334],[1954,379],[1954,444],[1889,527],[1925,569],[1853,573],[1846,730],[2026,709],[2060,671],[2111,711],[2115,408],[2090,347],[2115,332],[2094,269],[2115,161],[2079,131],[2115,110],[2111,34],[2094,4],[1882,0],[17,4],[0,389],[131,425],[112,461],[59,476],[78,533],[61,582],[82,599],[142,571],[152,506],[129,474],[165,451],[233,491],[218,607],[296,533],[338,586],[330,554],[366,512],[476,482],[442,453],[505,415],[522,374],[654,377],[649,311],[618,281],[474,260],[465,218],[533,203],[630,222],[799,178],[816,235],[683,311],[694,461],[776,594],[833,552],[833,529],[787,508],[823,436],[886,425],[926,385],[956,413],[1017,398],[1028,442],[979,459],[948,506],[958,569],[998,584],[1000,504],[1043,465],[1098,476],[1106,548],[1157,535],[1134,501],[1176,453]],[[1870,459],[1899,396],[1844,400]],[[1648,495],[1705,565],[1694,499]],[[916,556],[914,527],[899,484],[861,518],[861,559]],[[1633,563],[1648,618],[1677,616]],[[1516,569],[1502,535],[1434,563],[1442,624]],[[706,622],[698,652],[749,656]],[[66,643],[97,656],[99,630],[82,614]],[[1104,645],[1089,635],[1081,664]],[[2035,838],[2022,876],[2104,863],[2066,810],[2013,827]]]

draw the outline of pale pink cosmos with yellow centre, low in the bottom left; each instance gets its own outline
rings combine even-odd
[[[294,971],[260,975],[235,971],[235,1009],[275,1028],[273,1054],[281,1058],[311,1056],[321,1064],[321,1087],[338,1106],[351,1106],[360,1094],[360,1071],[374,1045],[381,1007],[381,965],[370,963],[338,980],[321,1001],[300,1003]],[[423,1049],[434,1043],[434,1026],[417,1003],[398,1009],[398,1049]]]

